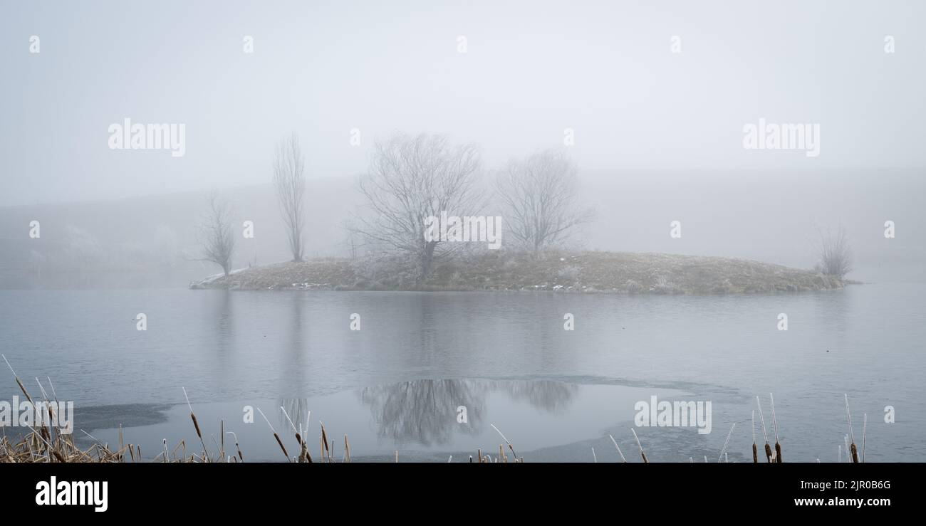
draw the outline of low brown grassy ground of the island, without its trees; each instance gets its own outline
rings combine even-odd
[[[192,288],[357,291],[551,291],[610,294],[757,294],[843,288],[814,270],[728,257],[614,252],[483,251],[434,265],[418,280],[402,257],[316,258],[241,269]]]

